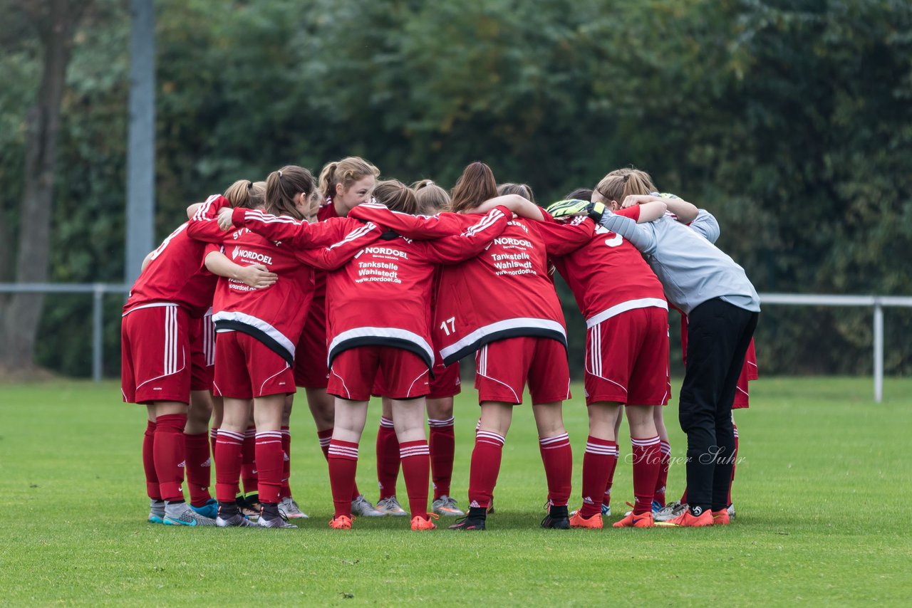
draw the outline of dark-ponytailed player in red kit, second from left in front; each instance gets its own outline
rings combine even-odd
[[[310,172],[300,167],[284,167],[266,180],[266,210],[275,222],[295,222],[304,217],[309,199],[316,193],[316,183]],[[227,201],[212,201],[213,206],[226,207]],[[232,212],[239,218],[244,214],[263,217],[260,211],[236,208],[224,210],[231,223]],[[206,238],[211,216],[199,211],[190,224],[192,234],[201,232]],[[370,240],[378,233],[372,227],[358,224],[360,234]],[[343,222],[351,224],[352,222]],[[306,224],[308,242],[324,245],[337,242],[345,232],[342,226]],[[221,279],[213,302],[213,319],[219,338],[216,341],[214,386],[224,398],[224,417],[216,443],[216,494],[219,500],[220,526],[249,525],[237,510],[237,492],[244,431],[250,417],[249,402],[253,398],[256,423],[255,459],[259,473],[259,499],[262,505],[258,525],[266,528],[293,527],[281,517],[283,459],[282,415],[285,396],[295,392],[292,365],[295,342],[304,325],[307,304],[313,294],[315,258],[322,253],[325,261],[336,258],[344,263],[356,251],[355,245],[345,242],[337,247],[318,250],[311,256],[297,251],[295,246],[278,240],[267,240],[249,230],[221,234],[225,252],[240,263],[263,263],[278,273],[274,285],[250,290],[231,279]],[[370,242],[368,240],[368,242]],[[357,244],[357,243],[356,243]],[[326,262],[331,264],[330,262]],[[329,265],[328,267],[332,267]],[[304,305],[300,305],[301,301]]]

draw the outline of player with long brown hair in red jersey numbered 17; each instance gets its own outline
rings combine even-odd
[[[475,162],[463,171],[453,189],[452,211],[484,210],[482,202],[514,204],[544,219],[533,202],[518,196],[497,197],[487,165]],[[360,219],[378,222],[409,237],[446,232],[472,220],[459,213],[434,218],[392,213],[378,205],[351,211]],[[590,224],[591,229],[594,225]],[[547,253],[564,254],[569,247],[566,227],[525,218],[508,222],[503,235],[471,260],[446,266],[440,278],[434,311],[434,343],[445,365],[476,354],[475,386],[479,390],[482,422],[472,451],[469,514],[458,530],[483,530],[486,509],[500,471],[503,441],[513,407],[522,403],[528,381],[539,431],[548,494],[552,501],[546,528],[569,528],[566,504],[570,496],[573,458],[561,416],[569,395],[564,314],[547,273]],[[477,294],[485,294],[484,298]],[[395,419],[395,418],[394,418]]]

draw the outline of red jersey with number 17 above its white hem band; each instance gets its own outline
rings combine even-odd
[[[511,214],[512,215],[512,214]],[[477,222],[478,215],[440,213],[434,217],[362,204],[349,216],[377,222],[414,238],[430,238]],[[513,218],[478,256],[445,266],[434,311],[433,342],[444,365],[482,345],[515,336],[553,338],[566,347],[561,304],[548,276],[547,255],[564,255],[591,236],[579,227]]]

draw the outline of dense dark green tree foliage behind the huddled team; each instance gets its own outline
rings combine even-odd
[[[52,280],[122,276],[128,4],[97,0],[76,36]],[[0,280],[42,52],[16,18],[0,26]],[[358,154],[449,185],[485,160],[542,202],[635,165],[717,215],[760,291],[912,294],[905,0],[161,0],[156,18],[159,238],[188,202],[288,162]],[[43,365],[88,372],[88,310],[47,306]],[[908,373],[912,314],[886,323],[887,371]],[[869,311],[767,307],[758,339],[763,372],[870,369]]]

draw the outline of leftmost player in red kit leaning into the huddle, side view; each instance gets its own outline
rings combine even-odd
[[[147,407],[142,456],[149,520],[214,525],[184,502],[181,488],[192,386],[190,326],[209,310],[216,283],[202,268],[206,243],[193,239],[188,225],[149,254],[130,289],[121,328],[121,391],[124,401]]]

